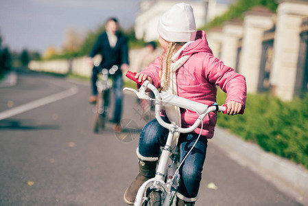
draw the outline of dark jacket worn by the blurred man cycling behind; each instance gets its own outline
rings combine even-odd
[[[106,32],[99,35],[97,42],[95,43],[90,57],[94,57],[96,54],[102,55],[102,68],[110,69],[113,65],[121,66],[122,64],[128,64],[128,43],[126,36],[123,36],[120,32],[117,32],[117,44],[115,47],[110,47],[108,36]],[[119,69],[121,71],[121,69]]]

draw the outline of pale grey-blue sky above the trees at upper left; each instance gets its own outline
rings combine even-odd
[[[231,0],[217,0],[221,2]],[[88,32],[115,16],[132,27],[140,0],[0,0],[0,36],[10,51],[60,49],[69,27]]]

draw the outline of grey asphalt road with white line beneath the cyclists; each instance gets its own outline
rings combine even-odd
[[[0,88],[0,205],[126,205],[146,122],[126,94],[123,133],[94,134],[89,85],[19,71]],[[196,205],[300,204],[209,141]]]

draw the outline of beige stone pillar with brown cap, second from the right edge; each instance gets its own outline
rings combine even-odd
[[[246,77],[248,93],[258,90],[263,32],[274,25],[273,16],[263,7],[252,8],[245,14],[239,73]]]

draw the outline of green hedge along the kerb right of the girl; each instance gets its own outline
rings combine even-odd
[[[226,94],[217,93],[217,102]],[[268,94],[248,94],[244,115],[219,115],[217,124],[265,151],[301,163],[308,169],[308,94],[283,102]]]

